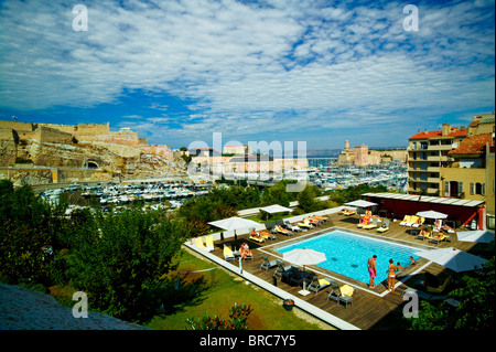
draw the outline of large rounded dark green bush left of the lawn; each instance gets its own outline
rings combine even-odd
[[[93,309],[126,320],[150,318],[166,296],[161,277],[188,236],[184,222],[132,209],[73,224],[72,285],[88,294]]]

